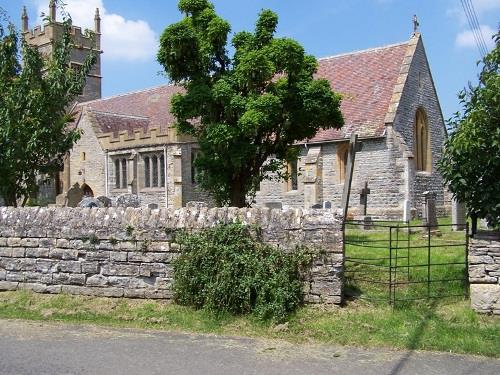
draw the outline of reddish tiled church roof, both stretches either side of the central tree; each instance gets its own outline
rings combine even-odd
[[[360,137],[384,135],[384,118],[400,75],[408,42],[319,59],[316,74],[330,81],[342,94],[341,111],[345,125],[340,130],[320,130],[307,142],[347,139],[352,132]],[[174,85],[131,92],[80,104],[94,113],[100,134],[159,128],[166,132],[174,123],[170,113],[172,95],[182,91]]]

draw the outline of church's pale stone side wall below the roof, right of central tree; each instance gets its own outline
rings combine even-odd
[[[401,162],[401,153],[391,137],[363,140],[363,149],[356,154],[354,174],[349,200],[349,212],[353,215],[361,214],[360,193],[368,182],[367,214],[401,218],[403,214],[404,165]],[[317,162],[316,184],[318,194],[316,204],[332,202],[332,207],[340,207],[344,182],[339,176],[339,158],[337,150],[346,142],[324,143],[308,145],[301,150],[299,159],[299,182],[297,191],[286,191],[286,183],[263,181],[257,193],[256,201],[259,206],[282,202],[287,207],[304,207],[306,191],[306,156],[307,150],[313,147],[321,149]],[[314,204],[313,203],[313,204]],[[310,206],[309,206],[310,207]],[[308,208],[308,207],[306,207]]]

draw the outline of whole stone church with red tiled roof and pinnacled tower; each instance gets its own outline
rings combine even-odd
[[[37,46],[51,27],[28,31]],[[55,11],[53,14],[55,20]],[[100,38],[96,13],[95,32]],[[84,58],[86,41],[74,27],[77,48],[72,64]],[[356,133],[362,148],[356,154],[350,212],[359,213],[361,190],[367,186],[367,213],[402,218],[419,215],[424,191],[436,194],[438,211],[445,213],[449,196],[437,171],[446,128],[418,32],[403,43],[321,58],[317,77],[331,82],[343,96],[345,125],[322,130],[303,140],[300,157],[288,168],[286,182],[264,181],[255,205],[302,207],[331,202],[339,207],[348,141]],[[72,126],[82,130],[57,182],[59,203],[75,184],[86,195],[116,199],[135,194],[141,205],[182,207],[190,201],[210,202],[196,184],[193,160],[196,140],[177,134],[169,111],[170,99],[181,88],[174,85],[101,97],[100,61],[76,107]]]

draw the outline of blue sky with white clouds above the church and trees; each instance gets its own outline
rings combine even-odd
[[[483,35],[500,22],[500,0],[472,0]],[[20,24],[23,5],[30,27],[49,0],[0,0]],[[103,96],[161,85],[166,78],[156,63],[158,39],[169,24],[181,19],[177,0],[66,0],[74,24],[93,27],[95,8],[102,16]],[[417,14],[444,117],[460,109],[457,92],[477,82],[480,59],[460,0],[213,0],[216,11],[233,31],[252,29],[262,8],[278,13],[279,36],[298,40],[317,57],[378,47],[409,39]]]

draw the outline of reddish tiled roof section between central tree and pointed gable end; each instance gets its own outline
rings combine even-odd
[[[398,79],[408,43],[353,52],[319,60],[317,77],[330,81],[342,94],[345,124],[340,130],[320,130],[310,142],[384,133],[384,118]]]

